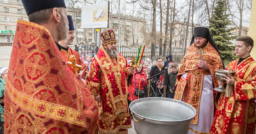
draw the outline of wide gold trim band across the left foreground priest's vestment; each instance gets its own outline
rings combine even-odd
[[[83,120],[78,120],[78,118],[83,115],[83,112],[79,112],[77,109],[72,109],[71,107],[66,107],[65,105],[43,101],[31,97],[30,95],[26,95],[25,93],[19,92],[12,87],[9,84],[9,81],[7,81],[6,88],[9,90],[6,90],[5,93],[9,96],[11,101],[16,103],[16,105],[19,105],[24,110],[29,110],[29,112],[39,116],[45,116],[54,120],[62,120],[77,126],[86,126],[84,122],[85,117]],[[61,112],[62,114],[60,114],[60,111],[63,111]]]

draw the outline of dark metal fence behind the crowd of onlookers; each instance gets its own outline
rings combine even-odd
[[[157,58],[162,58],[163,61],[166,60],[166,56],[168,54],[171,54],[173,56],[173,61],[176,61],[177,63],[181,63],[182,58],[184,56],[184,49],[183,48],[172,48],[171,50],[169,48],[165,49],[166,56],[161,55],[160,56],[160,48],[156,47],[156,51],[154,56],[151,56],[153,48],[145,48],[142,61],[146,61],[146,58],[150,58],[151,61],[155,61]],[[85,58],[87,55],[95,56],[98,52],[98,47],[94,45],[89,44],[83,44],[75,47],[75,50],[79,52],[79,55],[82,59]],[[119,52],[123,55],[125,58],[133,58],[133,56],[137,57],[139,52],[138,48],[132,48],[127,46],[120,46]],[[163,54],[163,53],[162,53]]]

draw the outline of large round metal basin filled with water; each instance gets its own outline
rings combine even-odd
[[[196,116],[191,105],[164,97],[137,99],[129,107],[137,134],[185,134]]]

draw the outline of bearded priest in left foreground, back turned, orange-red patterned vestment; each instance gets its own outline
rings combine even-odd
[[[62,59],[64,0],[22,0],[5,90],[5,133],[97,133],[98,105]]]

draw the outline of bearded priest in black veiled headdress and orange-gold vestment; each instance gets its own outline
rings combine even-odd
[[[174,97],[196,109],[189,134],[209,133],[215,109],[213,88],[218,86],[215,69],[223,69],[223,62],[209,29],[195,27],[177,75]]]

